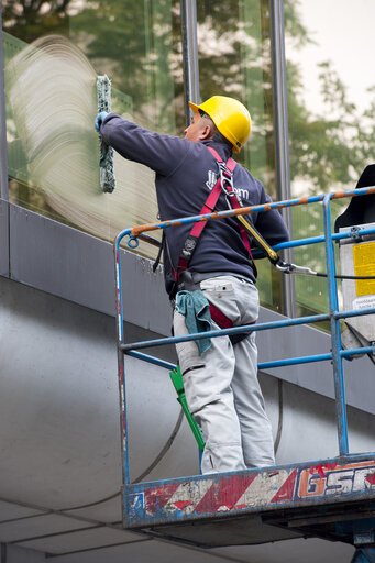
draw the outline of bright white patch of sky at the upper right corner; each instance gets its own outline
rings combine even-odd
[[[350,101],[366,107],[366,88],[375,85],[375,0],[301,0],[298,12],[317,43],[300,49],[286,45],[286,56],[298,62],[309,109],[318,102],[317,63],[331,60],[348,87]]]

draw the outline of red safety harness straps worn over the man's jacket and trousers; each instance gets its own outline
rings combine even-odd
[[[208,196],[203,207],[201,208],[199,214],[202,216],[206,213],[212,213],[214,211],[216,205],[217,205],[220,194],[222,191],[227,196],[229,207],[231,207],[232,209],[241,208],[242,206],[238,199],[236,194],[233,190],[233,180],[232,180],[232,176],[233,176],[233,172],[234,172],[236,162],[233,161],[233,158],[229,158],[228,162],[224,163],[223,159],[220,157],[220,155],[214,151],[214,148],[212,148],[211,146],[208,146],[207,148],[210,151],[210,153],[217,161],[220,175],[219,175],[219,178],[218,178],[216,185],[213,186],[210,195]],[[196,222],[184,243],[184,247],[183,247],[181,253],[178,258],[177,271],[174,271],[176,285],[179,283],[181,274],[184,272],[186,272],[188,268],[190,258],[197,247],[199,236],[201,235],[206,224],[207,224],[207,221]],[[246,233],[244,227],[242,225],[242,223],[240,221],[239,221],[239,229],[240,229],[243,244],[245,245],[245,249],[247,250],[250,261],[252,263],[252,267],[253,267],[253,271],[254,271],[254,274],[256,277],[257,272],[256,272],[256,267],[255,267],[255,264],[253,261],[250,242],[249,242],[249,236],[247,236],[247,233]],[[229,319],[225,314],[223,314],[220,311],[220,309],[218,309],[217,307],[214,307],[211,303],[210,303],[210,313],[211,313],[211,319],[220,328],[222,328],[222,329],[233,328],[233,322],[231,321],[231,319]],[[240,342],[241,340],[245,339],[250,332],[251,331],[249,331],[246,333],[242,333],[242,334],[233,334],[232,336],[230,336],[232,343],[235,344],[236,342]]]

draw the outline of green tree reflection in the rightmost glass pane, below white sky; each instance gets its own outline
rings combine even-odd
[[[310,41],[308,30],[301,25],[294,35],[296,22],[300,21],[298,14],[297,19],[295,16],[298,3],[295,0],[287,0],[285,3],[287,37],[294,42],[294,48]],[[349,99],[348,89],[333,64],[323,60],[318,68],[323,114],[313,113],[307,108],[300,69],[290,60],[287,62],[289,162],[295,196],[301,195],[301,190],[305,194],[317,194],[352,189],[365,166],[374,162],[375,97],[370,107],[361,111]],[[332,202],[332,225],[348,203],[348,199]],[[315,206],[295,208],[293,218],[295,238],[304,239],[323,232],[320,206],[319,209],[315,209]],[[322,245],[296,250],[295,261],[318,272],[326,272]],[[296,295],[299,312],[327,310],[324,280],[296,278]]]

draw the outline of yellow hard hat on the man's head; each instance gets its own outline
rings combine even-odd
[[[239,100],[227,96],[212,96],[200,106],[189,101],[195,113],[199,110],[210,115],[220,133],[233,145],[233,152],[239,153],[251,133],[251,118],[246,108]]]

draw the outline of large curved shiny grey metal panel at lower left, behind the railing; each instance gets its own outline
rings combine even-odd
[[[0,499],[121,520],[114,342],[114,319],[0,278]],[[185,423],[152,465],[180,412],[167,371],[131,357],[125,369],[132,479],[195,474]]]

